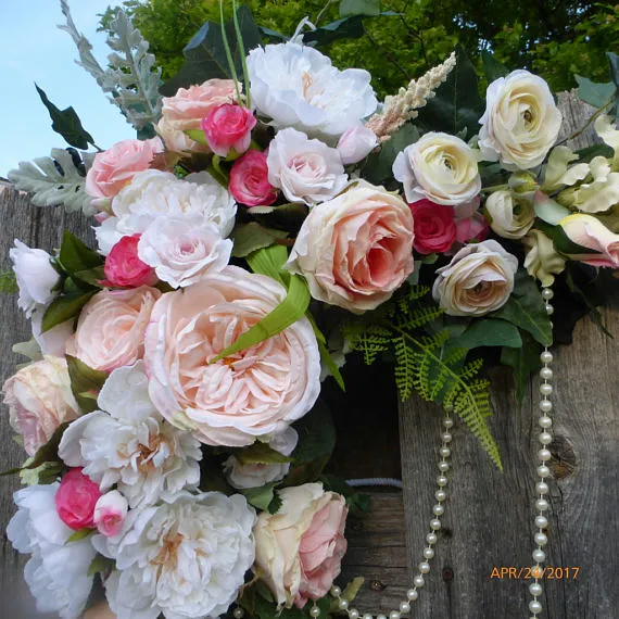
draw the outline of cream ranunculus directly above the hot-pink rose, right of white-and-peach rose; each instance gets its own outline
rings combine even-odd
[[[477,161],[477,151],[459,138],[431,131],[397,154],[393,176],[409,203],[427,198],[455,206],[481,190]]]

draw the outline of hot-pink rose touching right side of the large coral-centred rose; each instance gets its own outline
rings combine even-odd
[[[410,204],[415,220],[413,247],[420,254],[446,252],[456,240],[455,215],[452,206],[437,204],[430,200],[418,200]]]

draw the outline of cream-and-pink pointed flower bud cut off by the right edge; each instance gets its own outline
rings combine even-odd
[[[568,215],[557,224],[564,229],[570,241],[599,252],[598,254],[570,255],[572,260],[591,266],[619,268],[619,235],[611,232],[593,215]]]

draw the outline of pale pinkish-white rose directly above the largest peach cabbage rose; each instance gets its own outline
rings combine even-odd
[[[173,288],[195,283],[222,270],[230,260],[232,241],[223,239],[200,215],[157,217],[142,233],[138,255]]]

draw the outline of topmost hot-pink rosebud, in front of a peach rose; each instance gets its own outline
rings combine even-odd
[[[206,136],[211,150],[219,156],[227,156],[230,149],[244,153],[252,141],[252,129],[256,125],[251,110],[233,103],[213,108],[202,119],[200,127]]]

